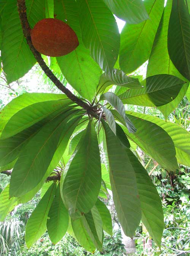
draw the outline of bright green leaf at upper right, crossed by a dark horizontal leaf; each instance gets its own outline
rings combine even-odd
[[[186,81],[174,66],[168,54],[168,24],[171,13],[172,0],[168,0],[152,46],[149,63],[147,66],[147,77],[157,74],[175,75]],[[186,81],[187,82],[187,81]],[[177,97],[166,105],[158,107],[167,119],[168,115],[178,106],[187,91],[188,84],[182,86]]]

